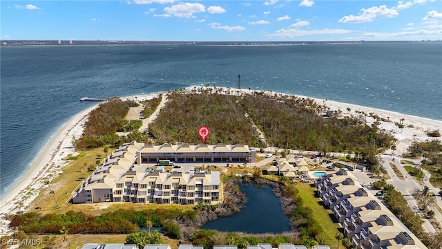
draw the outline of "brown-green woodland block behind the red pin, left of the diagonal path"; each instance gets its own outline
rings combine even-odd
[[[164,142],[201,143],[198,128],[209,127],[208,144],[224,142],[259,146],[256,129],[244,116],[238,105],[239,98],[232,95],[212,93],[182,94],[174,91],[155,122],[149,126],[151,135],[159,144]]]

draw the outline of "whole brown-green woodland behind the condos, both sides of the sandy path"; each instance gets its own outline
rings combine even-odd
[[[244,143],[254,147],[273,145],[280,148],[350,152],[356,158],[377,164],[378,149],[390,148],[393,136],[365,124],[364,118],[323,118],[327,107],[309,98],[254,92],[224,95],[220,89],[193,89],[191,93],[174,91],[157,120],[151,135],[158,143],[200,143],[200,125],[211,129],[206,142]],[[256,124],[267,138],[260,141]]]

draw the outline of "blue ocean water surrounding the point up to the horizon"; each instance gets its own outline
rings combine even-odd
[[[271,90],[442,120],[442,44],[2,46],[0,196],[76,113],[193,85]]]

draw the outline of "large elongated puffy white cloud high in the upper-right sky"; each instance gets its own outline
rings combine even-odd
[[[387,6],[374,6],[372,8],[361,9],[361,15],[354,16],[349,15],[339,19],[339,22],[343,23],[363,23],[367,21],[373,21],[376,17],[397,17],[399,15],[398,11],[392,8],[387,8]]]

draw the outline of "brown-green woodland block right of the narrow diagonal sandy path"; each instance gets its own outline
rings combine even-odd
[[[242,107],[277,147],[300,150],[352,151],[374,162],[378,148],[390,147],[392,136],[358,118],[323,118],[324,106],[311,99],[255,92],[244,95]]]

